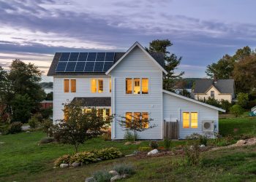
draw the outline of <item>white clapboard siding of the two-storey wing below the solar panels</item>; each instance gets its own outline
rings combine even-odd
[[[64,79],[76,79],[76,92],[64,92]],[[91,79],[103,79],[102,93],[91,93]],[[53,121],[63,119],[64,103],[75,97],[111,97],[110,76],[54,76],[53,77]],[[70,87],[69,87],[70,89]]]

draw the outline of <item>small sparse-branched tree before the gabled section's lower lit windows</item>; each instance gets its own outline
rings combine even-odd
[[[148,114],[137,113],[135,116],[131,114],[127,114],[127,116],[121,116],[121,120],[118,123],[121,127],[124,127],[125,130],[130,130],[133,132],[133,143],[135,143],[136,132],[142,132],[144,130],[148,130],[152,127],[156,127],[156,125],[149,126],[149,122],[153,121],[153,119],[148,118]]]

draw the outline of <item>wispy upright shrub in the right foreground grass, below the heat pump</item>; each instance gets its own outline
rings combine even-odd
[[[187,165],[198,165],[200,162],[200,149],[198,141],[195,141],[191,148],[184,148]]]

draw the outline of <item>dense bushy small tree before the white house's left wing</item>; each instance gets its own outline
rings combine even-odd
[[[65,118],[58,120],[59,124],[53,127],[53,136],[61,143],[69,143],[78,152],[78,146],[90,138],[102,134],[112,120],[110,116],[106,121],[97,114],[96,108],[84,112],[80,103],[69,103],[64,107]]]

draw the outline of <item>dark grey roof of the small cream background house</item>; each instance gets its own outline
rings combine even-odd
[[[195,81],[194,93],[206,93],[212,86],[220,93],[233,93],[234,84],[233,79],[218,79],[216,83],[214,83],[213,79],[197,79]]]

